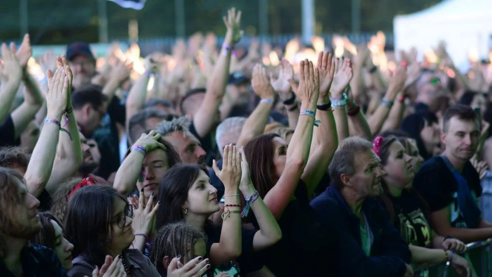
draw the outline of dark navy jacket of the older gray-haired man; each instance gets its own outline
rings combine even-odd
[[[374,242],[371,256],[362,250],[360,219],[333,185],[311,201],[321,220],[336,222],[338,276],[401,277],[410,263],[411,253],[400,233],[391,225],[387,214],[372,198],[366,199],[362,211],[371,228]]]

